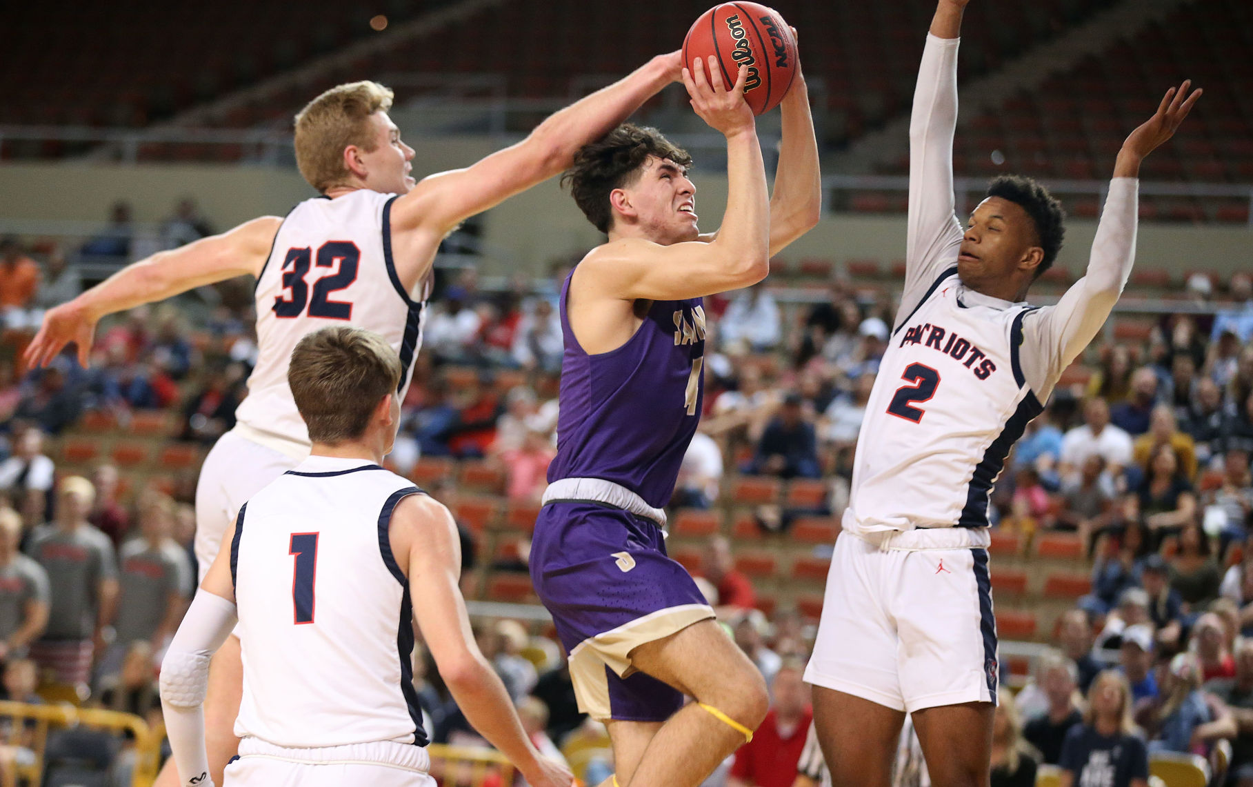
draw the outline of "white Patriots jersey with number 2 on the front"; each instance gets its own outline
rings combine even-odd
[[[1030,307],[964,303],[950,268],[888,340],[843,529],[986,526],[989,493],[1042,406],[1019,365]]]

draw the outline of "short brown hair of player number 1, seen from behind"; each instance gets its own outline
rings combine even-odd
[[[400,356],[377,333],[321,328],[296,343],[287,385],[312,442],[355,440],[378,400],[400,386]]]

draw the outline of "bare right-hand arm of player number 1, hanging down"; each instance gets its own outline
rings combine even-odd
[[[413,605],[422,639],[466,721],[534,787],[570,787],[574,776],[531,744],[505,684],[475,644],[457,586],[461,543],[452,515],[432,498],[410,495],[392,511],[388,535],[410,597],[422,599]]]

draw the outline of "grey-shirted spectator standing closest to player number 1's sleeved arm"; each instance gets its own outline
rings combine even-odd
[[[195,580],[184,553],[173,539],[174,501],[148,493],[139,514],[139,536],[122,546],[118,614],[114,639],[100,659],[100,674],[110,675],[137,642],[163,650],[178,630]]]

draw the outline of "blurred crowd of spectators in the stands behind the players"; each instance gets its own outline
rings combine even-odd
[[[128,212],[115,211],[101,238],[125,237],[128,224]],[[179,206],[167,231],[174,244],[209,228],[194,206]],[[154,665],[194,576],[194,474],[165,490],[173,496],[143,479],[128,484],[109,464],[86,479],[58,467],[44,440],[88,411],[124,425],[150,410],[172,414],[172,439],[212,444],[246,395],[256,358],[251,303],[223,287],[198,310],[140,307],[101,326],[89,368],[63,356],[21,373],[23,326],[81,279],[58,248],[31,254],[6,239],[0,257],[10,328],[0,342],[5,691],[34,699],[31,684],[51,680],[91,703],[159,713]],[[451,277],[426,322],[390,457],[398,471],[431,457],[482,462],[500,472],[502,499],[539,500],[555,452],[556,293],[568,271],[556,266],[548,289],[514,281],[501,292],[480,288],[472,269]],[[767,287],[707,298],[703,422],[673,510],[720,509],[729,474],[821,482],[819,503],[756,508],[763,530],[786,533],[798,515],[843,509],[893,305],[845,279],[814,294],[801,307]],[[1253,283],[1237,274],[1229,294],[1212,315],[1163,317],[1143,342],[1095,346],[1090,376],[1059,385],[1006,464],[990,509],[995,526],[1027,545],[1045,531],[1078,533],[1091,593],[1058,619],[1059,649],[999,709],[994,784],[1027,784],[1037,766],[1054,764],[1075,784],[1130,784],[1153,752],[1217,763],[1227,746],[1229,783],[1253,784],[1253,640],[1243,638],[1253,633]],[[471,529],[462,539],[467,569],[525,570],[525,539],[490,560],[475,554]],[[759,593],[736,570],[734,549],[725,536],[708,539],[699,584],[767,678],[773,706],[757,743],[709,784],[791,784],[816,751],[801,682],[812,622],[786,603],[772,617],[756,609]],[[555,642],[515,620],[477,625],[536,744],[579,757],[593,783],[606,777],[604,731],[578,713]],[[429,657],[417,662],[435,741],[481,743]],[[916,739],[906,734],[901,747],[897,784],[926,784]]]

